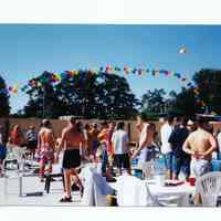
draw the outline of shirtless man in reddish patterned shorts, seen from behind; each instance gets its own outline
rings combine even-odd
[[[39,131],[36,149],[36,152],[40,156],[41,181],[44,181],[43,178],[46,164],[49,164],[49,171],[52,171],[52,164],[54,162],[54,146],[55,140],[51,129],[51,123],[49,119],[44,119],[42,122],[42,128]]]

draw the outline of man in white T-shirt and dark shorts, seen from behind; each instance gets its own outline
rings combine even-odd
[[[114,146],[114,155],[119,169],[119,173],[123,173],[123,168],[130,175],[130,162],[129,162],[129,138],[127,133],[124,130],[124,122],[117,124],[117,130],[113,134],[112,143]]]

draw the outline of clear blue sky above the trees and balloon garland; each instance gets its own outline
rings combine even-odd
[[[129,66],[176,71],[191,80],[201,69],[221,69],[220,25],[0,24],[0,75],[24,85],[43,71]],[[178,53],[186,46],[188,53]],[[172,76],[127,75],[138,98],[147,91],[179,92]],[[12,113],[28,102],[11,95]]]

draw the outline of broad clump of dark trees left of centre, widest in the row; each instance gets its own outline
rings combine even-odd
[[[44,72],[29,82],[25,116],[42,117],[44,109],[45,117],[128,119],[137,113],[138,101],[124,77],[78,71],[62,73],[61,81],[53,78],[54,74]]]

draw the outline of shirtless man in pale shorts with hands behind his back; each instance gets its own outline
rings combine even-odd
[[[198,120],[198,129],[186,139],[182,149],[191,155],[191,172],[200,177],[211,171],[212,151],[217,149],[214,137],[204,130],[206,122]]]

